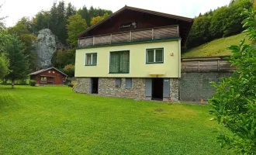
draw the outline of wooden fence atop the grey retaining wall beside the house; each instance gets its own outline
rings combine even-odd
[[[230,65],[225,57],[182,58],[182,72],[234,71],[236,67]]]

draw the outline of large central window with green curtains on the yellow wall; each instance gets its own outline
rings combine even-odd
[[[127,74],[130,71],[130,51],[110,52],[109,73]]]

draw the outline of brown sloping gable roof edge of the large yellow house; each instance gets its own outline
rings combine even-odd
[[[130,7],[130,6],[125,5],[122,9],[119,9],[118,11],[112,13],[112,15],[109,15],[106,19],[103,19],[102,21],[96,23],[94,26],[91,26],[91,27],[88,27],[88,29],[85,29],[85,31],[78,34],[78,38],[85,35],[85,33],[88,33],[88,31],[94,29],[95,27],[101,25],[102,23],[108,21],[112,17],[118,15],[120,12],[123,12],[124,10],[133,10],[133,11],[137,11],[137,12],[148,13],[148,14],[151,14],[151,15],[160,15],[160,16],[167,17],[167,18],[170,18],[170,19],[182,20],[184,22],[193,22],[194,21],[194,19],[187,18],[187,17],[182,17],[182,16],[178,16],[178,15],[171,15],[171,14],[167,14],[167,13],[163,13],[163,12],[155,12],[155,11],[151,11],[151,10],[147,10],[147,9],[139,9],[139,8],[134,8],[134,7]]]

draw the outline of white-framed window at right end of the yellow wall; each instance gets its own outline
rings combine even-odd
[[[164,63],[164,49],[147,49],[147,64]]]

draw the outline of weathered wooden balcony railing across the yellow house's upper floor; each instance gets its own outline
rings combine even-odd
[[[153,29],[140,29],[122,33],[111,33],[100,36],[89,36],[78,40],[78,47],[92,47],[114,43],[129,43],[144,40],[160,40],[178,37],[178,26],[164,26]]]

